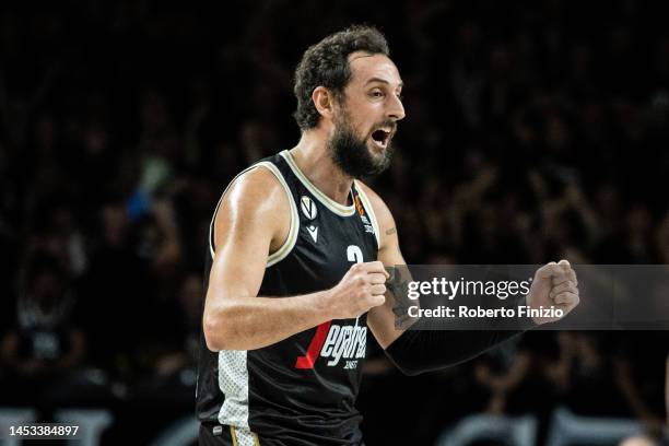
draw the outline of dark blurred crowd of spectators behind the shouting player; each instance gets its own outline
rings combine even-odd
[[[3,4],[0,406],[191,410],[215,202],[296,143],[294,67],[351,23],[386,34],[406,84],[373,187],[409,263],[669,263],[667,19],[638,0]],[[379,355],[365,434],[558,404],[658,432],[668,345],[538,332],[411,379]]]

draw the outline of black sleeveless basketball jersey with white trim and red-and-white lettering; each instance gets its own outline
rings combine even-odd
[[[327,290],[354,262],[376,260],[378,225],[355,181],[352,204],[342,206],[306,178],[289,151],[251,168],[274,174],[291,207],[289,237],[268,254],[258,295],[281,298]],[[206,278],[215,256],[214,219],[215,212]],[[213,353],[203,333],[200,338],[200,421],[231,426],[239,446],[362,444],[354,402],[366,355],[366,315],[331,320],[257,350]]]

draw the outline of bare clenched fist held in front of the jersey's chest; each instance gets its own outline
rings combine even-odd
[[[332,319],[352,319],[386,302],[386,280],[390,277],[384,263],[369,261],[353,265],[341,281],[326,294],[326,308]]]

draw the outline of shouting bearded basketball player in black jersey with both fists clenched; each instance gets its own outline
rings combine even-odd
[[[467,342],[454,344],[454,331],[395,328],[401,296],[386,287],[386,268],[404,260],[390,211],[359,180],[388,166],[404,117],[388,55],[384,36],[362,26],[307,49],[295,72],[300,142],[239,174],[216,207],[197,391],[201,444],[362,445],[354,402],[367,328],[410,374],[513,333],[460,333]],[[550,263],[527,303],[568,312],[577,293],[568,263]]]

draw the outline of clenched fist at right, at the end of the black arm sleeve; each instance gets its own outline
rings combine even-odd
[[[530,292],[527,295],[527,305],[532,309],[550,308],[562,309],[563,317],[578,305],[578,280],[576,272],[568,261],[551,261],[539,268],[535,274]],[[533,317],[537,324],[554,322],[560,317]]]

